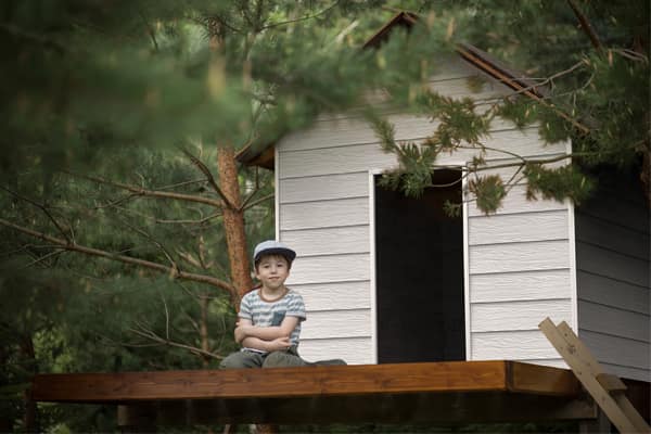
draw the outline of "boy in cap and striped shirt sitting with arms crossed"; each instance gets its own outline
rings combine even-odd
[[[234,332],[242,349],[225,358],[220,368],[308,365],[296,352],[305,304],[298,293],[284,285],[295,257],[293,250],[273,240],[255,247],[255,277],[261,286],[242,297]]]

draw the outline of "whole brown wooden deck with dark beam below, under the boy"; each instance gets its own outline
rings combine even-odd
[[[40,374],[37,401],[119,405],[120,424],[469,423],[593,419],[564,369],[459,361]]]

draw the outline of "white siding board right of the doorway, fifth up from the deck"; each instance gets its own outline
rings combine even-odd
[[[566,240],[569,234],[564,209],[468,219],[470,245]]]

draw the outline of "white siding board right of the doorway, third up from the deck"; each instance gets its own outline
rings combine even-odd
[[[570,269],[473,275],[470,303],[570,298]]]

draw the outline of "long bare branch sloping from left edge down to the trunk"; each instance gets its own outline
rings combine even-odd
[[[38,232],[33,229],[15,225],[3,218],[0,218],[0,225],[11,228],[11,229],[14,229],[18,232],[25,233],[29,237],[34,237],[39,240],[48,241],[52,244],[55,244],[60,248],[63,248],[63,250],[66,250],[69,252],[78,252],[78,253],[82,253],[82,254],[90,255],[90,256],[103,257],[106,259],[117,260],[119,263],[124,263],[124,264],[128,264],[128,265],[143,267],[143,268],[146,268],[150,270],[155,270],[155,271],[167,273],[175,279],[190,280],[190,281],[199,282],[199,283],[207,283],[215,288],[225,290],[231,295],[234,294],[234,291],[235,291],[233,285],[231,285],[230,283],[225,282],[220,279],[214,278],[212,276],[196,275],[196,273],[192,273],[192,272],[181,271],[181,270],[175,269],[174,267],[168,267],[168,266],[153,263],[150,260],[139,259],[139,258],[135,258],[131,256],[125,256],[125,255],[120,255],[120,254],[114,254],[111,252],[106,252],[106,251],[102,251],[102,250],[93,248],[93,247],[87,247],[87,246],[79,245],[76,243],[68,243],[66,240],[62,240],[62,239],[59,239],[55,237],[48,235],[43,232]]]

